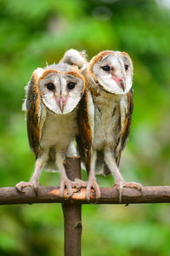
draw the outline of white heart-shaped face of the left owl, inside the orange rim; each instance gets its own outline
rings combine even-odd
[[[70,89],[68,84],[71,83],[75,84],[75,87]],[[54,89],[49,90],[48,84],[53,84]],[[77,107],[83,94],[84,83],[74,74],[51,71],[40,79],[39,88],[42,102],[49,110],[56,114],[66,114]]]

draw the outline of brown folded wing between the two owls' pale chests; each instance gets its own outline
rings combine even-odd
[[[94,138],[94,102],[89,90],[85,91],[79,104],[77,124],[79,128],[77,148],[89,171]]]

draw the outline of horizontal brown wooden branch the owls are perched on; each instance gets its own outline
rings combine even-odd
[[[118,204],[118,192],[115,187],[101,188],[101,198],[95,200],[94,191],[91,193],[91,202],[97,204]],[[59,197],[59,188],[42,186],[38,189],[37,195],[34,189],[27,187],[25,193],[18,192],[14,187],[0,188],[0,205],[33,204],[33,203],[76,203],[88,204],[85,199],[86,189],[77,192],[67,199],[65,191],[64,199]],[[76,193],[77,192],[77,193]],[[137,189],[123,189],[122,204],[137,203],[163,203],[170,202],[170,186],[143,187],[142,193]]]

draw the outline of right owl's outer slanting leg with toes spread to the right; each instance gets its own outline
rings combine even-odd
[[[133,189],[138,189],[142,190],[142,185],[140,183],[128,183],[125,182],[124,179],[122,178],[121,172],[119,171],[117,165],[116,165],[116,160],[111,154],[111,150],[105,150],[105,163],[108,166],[112,176],[115,178],[115,184],[117,186],[117,190],[119,191],[119,202],[122,202],[122,190],[123,187],[127,188],[133,188]]]

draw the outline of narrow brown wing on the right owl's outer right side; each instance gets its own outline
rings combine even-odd
[[[120,106],[121,109],[121,137],[116,142],[115,159],[116,164],[119,166],[121,160],[122,149],[127,143],[127,137],[130,131],[131,119],[133,114],[133,90],[130,90],[126,96],[123,97],[123,102]]]

